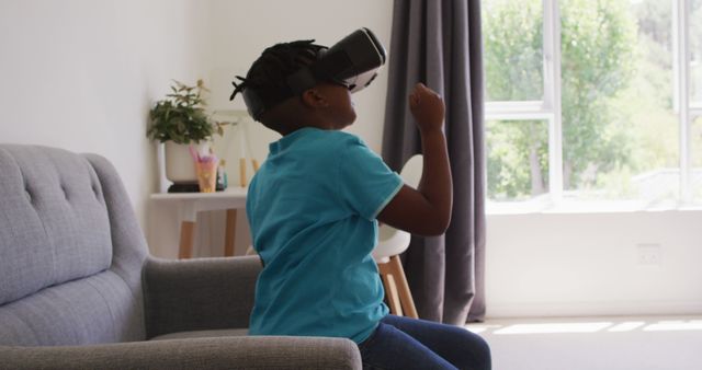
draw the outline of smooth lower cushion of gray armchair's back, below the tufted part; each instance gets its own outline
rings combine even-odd
[[[0,346],[143,339],[141,304],[124,299],[132,296],[124,280],[110,270],[43,289],[0,307]]]

